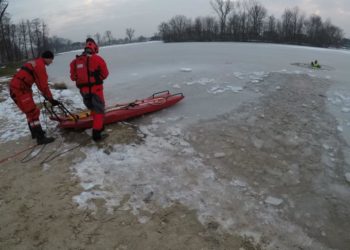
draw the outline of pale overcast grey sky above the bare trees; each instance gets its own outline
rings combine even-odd
[[[175,15],[187,17],[215,15],[210,0],[14,0],[8,12],[14,22],[41,18],[49,26],[50,36],[73,41],[85,40],[88,34],[112,31],[115,38],[124,38],[125,29],[135,35],[151,36],[158,25]],[[318,14],[350,37],[350,0],[260,0],[268,15],[277,18],[286,8],[298,6],[307,16]]]

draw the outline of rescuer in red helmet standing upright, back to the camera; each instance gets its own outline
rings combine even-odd
[[[86,39],[84,52],[70,63],[70,78],[76,82],[85,106],[93,117],[92,139],[102,139],[104,129],[105,100],[103,80],[108,76],[108,68],[102,57],[97,55],[98,46],[92,38]]]

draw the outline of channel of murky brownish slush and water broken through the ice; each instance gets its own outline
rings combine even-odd
[[[282,204],[275,210],[283,220],[326,248],[345,250],[350,246],[350,190],[343,152],[349,147],[326,109],[330,84],[307,75],[271,74],[248,86],[263,93],[259,100],[202,121],[189,138],[215,166],[218,178],[243,180],[261,201],[278,197]],[[279,228],[255,226],[269,241],[281,234]],[[282,232],[282,242],[289,238]],[[299,249],[289,244],[288,249]]]

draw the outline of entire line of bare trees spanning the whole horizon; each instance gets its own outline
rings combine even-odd
[[[343,31],[330,20],[321,17],[306,17],[299,8],[286,9],[277,19],[268,16],[267,10],[256,0],[211,0],[217,17],[197,17],[194,21],[178,15],[159,25],[159,33],[151,38],[135,38],[135,30],[127,28],[125,38],[116,39],[112,32],[99,32],[93,37],[100,46],[163,40],[164,42],[185,41],[259,41],[274,43],[306,44],[320,47],[350,47],[350,40],[343,38]],[[35,58],[46,49],[55,53],[82,49],[84,41],[49,36],[49,27],[44,20],[22,20],[11,22],[6,12],[8,0],[0,0],[0,64]]]

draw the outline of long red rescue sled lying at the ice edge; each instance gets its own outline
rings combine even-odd
[[[182,93],[170,94],[168,90],[154,93],[152,96],[135,100],[130,103],[116,104],[107,107],[105,110],[104,124],[125,121],[130,118],[138,117],[147,113],[155,112],[170,107],[184,98]],[[59,122],[61,128],[87,129],[92,127],[92,116],[90,111],[80,113],[71,113],[61,103],[57,107],[60,109],[58,114],[53,107],[46,104],[45,108],[50,113],[50,119]]]

